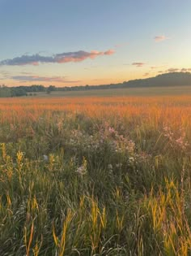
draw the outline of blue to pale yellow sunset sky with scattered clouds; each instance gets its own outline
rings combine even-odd
[[[0,85],[191,72],[190,0],[0,0]]]

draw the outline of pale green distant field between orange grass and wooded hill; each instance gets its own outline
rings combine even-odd
[[[99,97],[115,97],[115,96],[157,96],[157,95],[191,95],[191,86],[174,86],[174,87],[152,87],[152,88],[129,88],[129,89],[90,89],[84,91],[67,91],[37,93],[40,97],[82,97],[82,96],[99,96]]]

